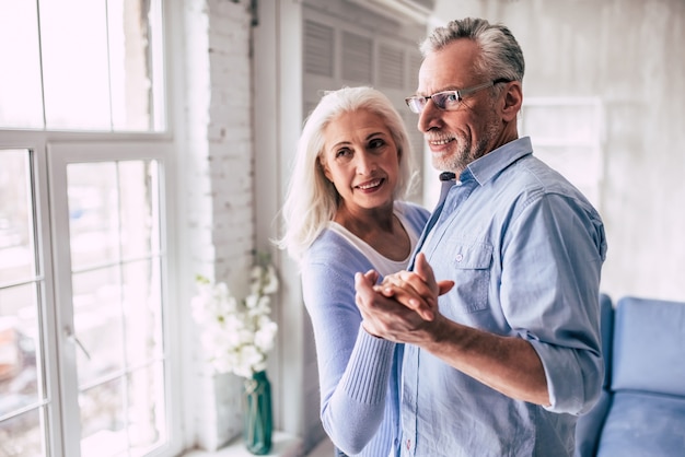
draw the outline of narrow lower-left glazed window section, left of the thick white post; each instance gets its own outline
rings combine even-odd
[[[0,457],[46,455],[32,175],[28,150],[0,150]]]

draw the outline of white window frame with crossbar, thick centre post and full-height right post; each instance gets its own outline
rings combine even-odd
[[[176,51],[183,49],[183,34],[169,33],[170,30],[183,30],[183,9],[175,2],[161,5],[164,31],[159,43],[162,44],[165,72],[162,86],[165,97],[165,130],[112,132],[0,128],[0,148],[28,150],[31,154],[36,269],[38,282],[42,281],[38,344],[43,354],[43,365],[39,368],[45,375],[40,375],[39,382],[45,389],[45,400],[42,401],[46,405],[45,419],[49,424],[45,436],[48,456],[80,455],[76,371],[72,375],[65,375],[63,370],[58,368],[65,363],[65,358],[73,359],[77,351],[74,342],[68,341],[62,331],[71,316],[71,296],[67,296],[71,290],[71,279],[65,281],[66,277],[70,277],[71,269],[69,262],[65,261],[70,257],[69,244],[60,243],[65,239],[63,234],[69,233],[68,213],[60,214],[67,203],[66,167],[68,163],[77,162],[154,159],[160,164],[166,445],[148,455],[181,455],[193,440],[193,418],[187,418],[184,413],[184,409],[191,401],[187,398],[190,389],[185,385],[187,375],[181,370],[190,359],[184,344],[189,329],[185,324],[187,319],[184,319],[186,309],[182,306],[184,295],[179,291],[183,286],[178,281],[178,271],[182,268],[178,267],[181,249],[177,233],[184,233],[184,230],[177,227],[179,221],[173,203],[185,195],[179,188],[184,179],[178,179],[176,168],[184,139],[183,134],[178,134],[183,133],[179,129],[183,128],[181,109],[185,102],[182,86],[184,78],[175,78],[175,74],[182,74],[179,72],[183,71],[183,59],[176,57]],[[159,78],[159,74],[153,78]],[[140,151],[144,153],[140,154]],[[68,313],[65,312],[63,304],[69,305]],[[76,426],[68,426],[72,421]]]

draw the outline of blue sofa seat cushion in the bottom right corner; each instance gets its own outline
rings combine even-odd
[[[597,457],[683,456],[685,398],[623,390],[612,401]]]

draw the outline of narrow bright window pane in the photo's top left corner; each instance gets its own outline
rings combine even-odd
[[[0,0],[0,126],[43,127],[36,2]],[[1,168],[0,168],[1,169]]]

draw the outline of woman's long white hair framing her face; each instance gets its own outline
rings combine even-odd
[[[282,208],[285,234],[277,241],[280,248],[297,260],[333,220],[339,195],[326,176],[318,157],[323,153],[324,130],[344,113],[368,110],[385,121],[397,147],[399,176],[395,199],[403,199],[413,181],[411,145],[402,117],[382,92],[367,86],[342,87],[326,92],[304,122],[298,142],[294,167]]]

